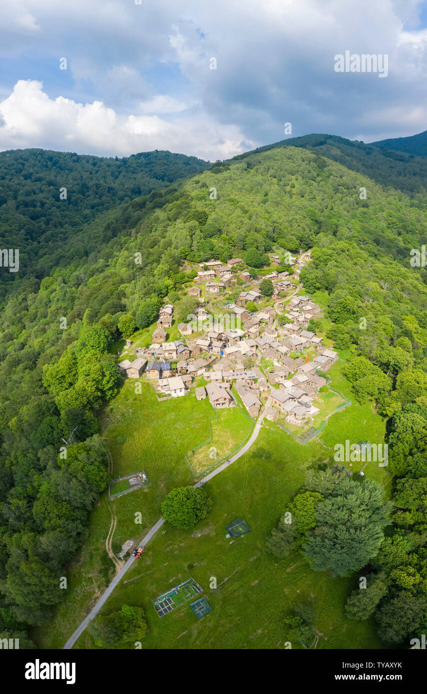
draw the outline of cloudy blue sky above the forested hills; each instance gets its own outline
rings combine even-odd
[[[1,151],[215,161],[427,129],[425,1],[1,0],[1,14]],[[387,76],[337,71],[346,51],[388,56]]]

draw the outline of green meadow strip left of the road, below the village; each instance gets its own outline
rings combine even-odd
[[[229,412],[231,417],[221,419],[222,428],[215,439],[219,450],[221,435],[230,437],[233,448],[250,428],[249,419],[238,407]],[[194,483],[185,453],[208,440],[212,414],[208,398],[198,402],[190,395],[159,403],[149,383],[142,380],[142,393],[135,394],[135,381],[124,382],[101,415],[103,436],[112,454],[112,477],[144,470],[149,484],[115,500],[108,499],[108,491],[101,495],[99,506],[92,511],[89,537],[67,568],[64,600],[55,609],[49,628],[33,630],[40,648],[62,648],[114,576],[114,564],[106,550],[114,518],[117,525],[110,550],[117,553],[126,540],[139,541],[156,523],[160,504],[171,489]],[[127,480],[122,482],[128,484]],[[142,518],[138,524],[137,513]]]

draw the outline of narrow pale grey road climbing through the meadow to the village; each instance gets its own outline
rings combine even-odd
[[[212,480],[212,477],[215,477],[215,475],[219,475],[219,473],[221,473],[223,470],[228,468],[228,466],[232,465],[236,460],[238,460],[240,457],[242,457],[242,455],[244,455],[249,450],[249,448],[251,448],[252,444],[258,438],[258,434],[260,433],[260,429],[261,429],[261,425],[262,425],[262,420],[264,419],[266,409],[267,409],[267,407],[269,407],[270,404],[271,404],[271,395],[269,395],[267,403],[265,403],[265,407],[264,407],[262,414],[260,414],[260,416],[258,417],[257,423],[256,423],[255,427],[253,428],[253,432],[251,434],[250,439],[248,439],[248,441],[246,441],[244,446],[242,446],[242,448],[240,448],[240,450],[238,450],[237,453],[235,453],[235,455],[233,455],[233,457],[231,457],[225,463],[223,463],[218,468],[216,468],[216,470],[212,471],[212,473],[209,473],[209,475],[206,475],[206,477],[203,477],[203,480],[200,480],[200,482],[196,482],[196,484],[194,484],[194,487],[202,486],[202,484],[205,484],[205,482]],[[157,523],[155,523],[155,525],[153,525],[153,527],[151,527],[149,532],[147,532],[146,536],[144,536],[142,538],[142,540],[140,541],[138,546],[144,547],[151,540],[153,535],[156,534],[156,532],[160,529],[160,527],[162,527],[162,525],[164,523],[165,523],[165,518],[159,518]],[[119,572],[112,579],[112,582],[110,583],[108,588],[103,592],[103,594],[101,595],[101,598],[99,598],[97,603],[94,604],[94,607],[92,607],[92,610],[90,611],[90,613],[83,620],[81,625],[79,627],[77,627],[74,634],[72,634],[72,636],[69,637],[67,643],[64,646],[64,650],[69,650],[74,646],[74,643],[76,643],[78,637],[81,636],[81,634],[83,634],[83,632],[85,631],[85,629],[86,629],[87,625],[90,623],[90,621],[94,617],[97,616],[100,609],[103,607],[104,604],[106,604],[106,601],[110,597],[112,591],[114,591],[115,587],[122,580],[126,571],[131,568],[135,559],[136,559],[136,557],[133,557],[133,556],[129,557],[128,561],[126,561],[126,564],[124,564],[124,566],[119,570]]]

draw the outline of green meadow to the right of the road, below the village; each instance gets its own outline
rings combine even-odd
[[[271,451],[271,458],[256,459],[248,452],[206,484],[214,502],[208,518],[191,530],[168,525],[166,534],[158,534],[103,613],[124,603],[143,607],[149,633],[142,648],[283,648],[283,616],[292,604],[310,602],[317,609],[315,626],[321,634],[317,648],[381,648],[370,621],[343,617],[356,577],[333,579],[328,573],[312,572],[300,554],[278,560],[265,550],[271,527],[301,486],[305,468],[316,468],[324,450],[316,442],[299,445],[271,423],[262,427],[258,444]],[[225,526],[237,517],[251,532],[226,539]],[[212,611],[197,620],[185,604],[159,618],[151,600],[190,576],[203,588]],[[210,588],[213,577],[216,589]],[[82,634],[75,648],[87,646],[95,648]],[[292,643],[292,648],[301,646]]]

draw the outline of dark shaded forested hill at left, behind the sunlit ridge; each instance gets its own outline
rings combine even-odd
[[[40,280],[69,262],[69,240],[101,212],[208,167],[196,157],[158,150],[122,159],[44,149],[0,152],[0,238],[19,248],[19,272],[0,273],[0,299],[10,282]]]

